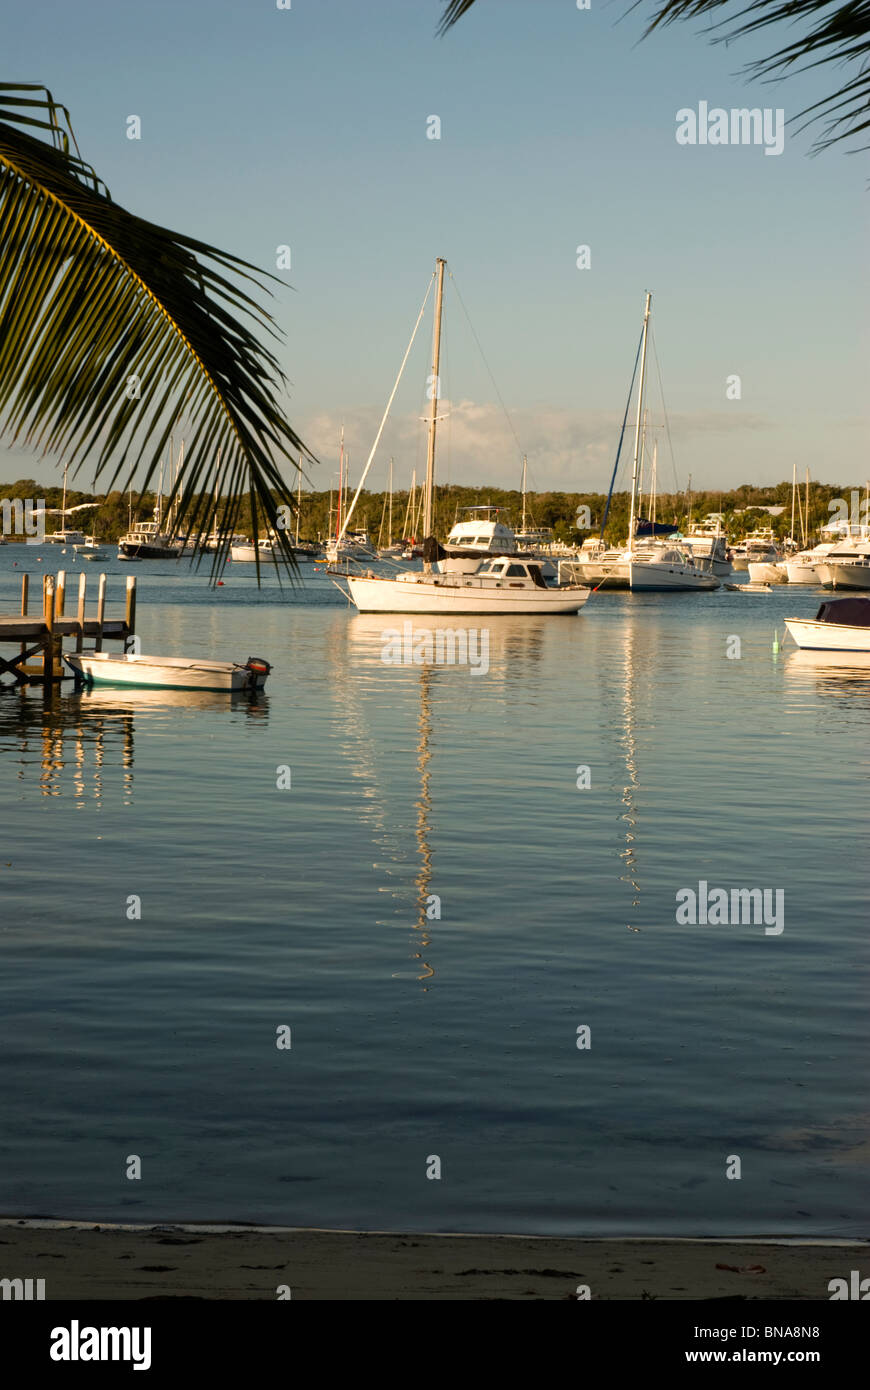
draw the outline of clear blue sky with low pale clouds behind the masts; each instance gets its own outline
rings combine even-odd
[[[812,132],[789,132],[778,157],[675,142],[682,107],[788,118],[831,75],[746,83],[742,64],[771,36],[725,50],[680,25],[639,42],[649,6],[627,14],[624,0],[478,0],[436,39],[441,8],[51,0],[19,7],[4,71],[69,107],[83,156],[131,210],[267,268],[292,247],[274,313],[317,485],[342,421],[359,473],[436,256],[513,423],[449,293],[441,477],[517,485],[525,449],[536,488],[606,485],[650,289],[681,485],[774,482],[792,464],[863,484],[867,156],[812,158]],[[126,139],[131,114],[140,140]],[[441,140],[427,139],[432,114]],[[391,453],[396,485],[422,466],[429,334],[372,486]],[[725,398],[734,373],[739,402]],[[57,461],[6,450],[0,477],[19,475],[50,481]]]

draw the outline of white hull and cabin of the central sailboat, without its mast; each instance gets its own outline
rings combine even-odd
[[[396,578],[342,575],[360,613],[580,613],[591,589],[550,585],[541,560],[486,560],[474,574],[406,570]]]

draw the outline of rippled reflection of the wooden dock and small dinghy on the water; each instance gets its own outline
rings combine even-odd
[[[136,714],[153,723],[161,713],[245,712],[252,719],[268,713],[267,696],[256,703],[247,696],[211,691],[160,691],[99,685],[81,691],[42,687],[6,688],[0,695],[0,742],[17,780],[28,781],[36,770],[43,796],[69,795],[76,801],[121,795],[133,799],[133,735]]]

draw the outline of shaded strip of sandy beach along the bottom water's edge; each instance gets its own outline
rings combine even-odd
[[[420,1236],[7,1219],[0,1277],[46,1300],[823,1300],[866,1241]],[[284,1293],[286,1297],[286,1293]],[[585,1295],[584,1295],[585,1297]]]

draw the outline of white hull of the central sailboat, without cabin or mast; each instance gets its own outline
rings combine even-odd
[[[407,580],[346,575],[360,613],[578,613],[591,591],[485,582],[475,575],[411,575]]]

